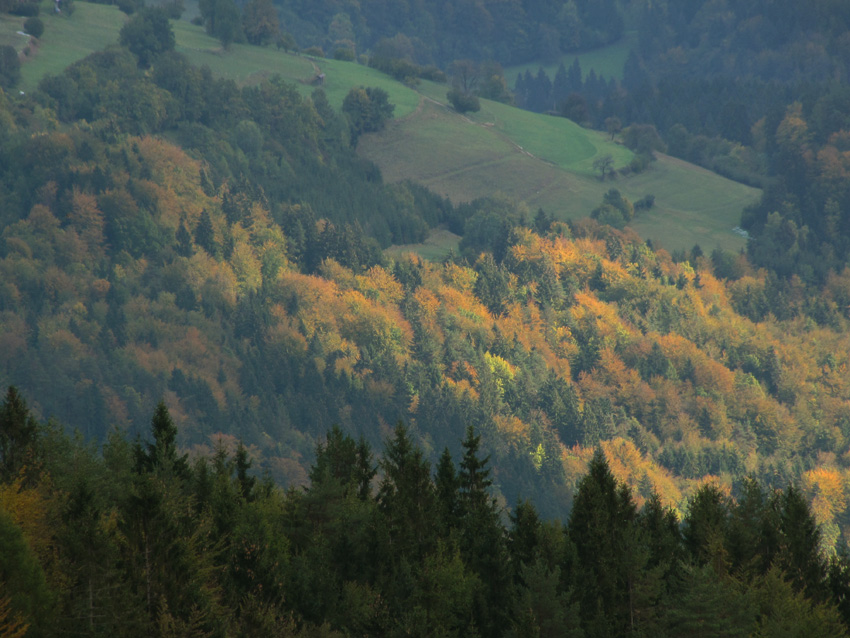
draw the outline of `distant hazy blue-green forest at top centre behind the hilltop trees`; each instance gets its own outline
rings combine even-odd
[[[617,40],[623,18],[613,0],[281,0],[282,22],[301,46],[365,53],[381,40],[403,36],[411,61],[446,66],[473,58],[518,64]]]

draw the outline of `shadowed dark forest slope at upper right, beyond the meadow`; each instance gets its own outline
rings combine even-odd
[[[850,12],[842,2],[626,3],[637,31],[622,77],[563,65],[526,71],[526,108],[630,131],[663,150],[765,187],[744,213],[750,259],[823,284],[848,260],[846,144]],[[656,135],[657,134],[657,135]]]

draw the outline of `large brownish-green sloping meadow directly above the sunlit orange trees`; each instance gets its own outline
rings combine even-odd
[[[610,188],[633,201],[652,194],[655,207],[633,224],[643,237],[671,250],[697,243],[708,250],[744,246],[732,229],[742,209],[758,198],[757,189],[666,156],[640,175],[602,182],[588,169],[593,157],[612,152],[622,165],[631,156],[604,134],[525,112],[517,123],[513,109],[482,104],[482,113],[493,109],[505,125],[492,114],[479,113],[476,121],[426,100],[412,116],[361,138],[358,152],[378,164],[388,181],[413,179],[455,202],[505,194],[558,219],[588,215]]]

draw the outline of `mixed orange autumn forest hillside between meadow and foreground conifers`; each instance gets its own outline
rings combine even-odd
[[[601,444],[641,499],[751,472],[802,481],[829,539],[847,522],[847,275],[814,298],[723,253],[383,186],[359,111],[174,54],[97,54],[3,112],[3,378],[43,417],[103,440],[164,397],[182,446],[238,436],[284,484],[333,424],[377,445],[403,420],[432,459],[474,425],[499,492],[546,516]],[[594,215],[633,211],[612,190]],[[464,235],[443,264],[367,236],[437,223]]]

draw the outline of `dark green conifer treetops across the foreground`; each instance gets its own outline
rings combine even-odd
[[[565,524],[490,494],[468,427],[435,467],[339,429],[282,491],[241,443],[189,459],[160,403],[98,452],[0,403],[0,627],[15,636],[847,635],[850,558],[794,487],[638,507],[597,452]]]

